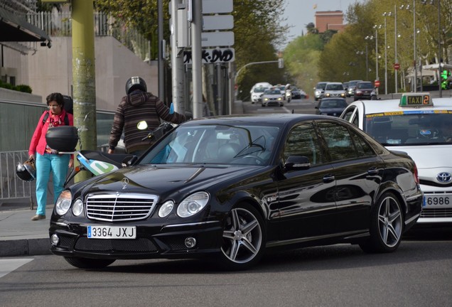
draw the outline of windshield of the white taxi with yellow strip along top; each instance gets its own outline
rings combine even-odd
[[[391,116],[367,114],[365,131],[383,145],[411,146],[451,143],[452,110],[435,112],[419,110],[397,112],[400,114]]]

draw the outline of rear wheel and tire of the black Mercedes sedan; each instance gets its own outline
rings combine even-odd
[[[370,237],[360,243],[364,252],[394,252],[402,239],[402,205],[393,193],[384,193],[370,213]]]

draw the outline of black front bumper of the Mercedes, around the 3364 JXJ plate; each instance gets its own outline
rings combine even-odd
[[[220,252],[219,221],[135,226],[136,239],[88,239],[87,225],[51,222],[49,235],[57,235],[59,242],[52,245],[50,252],[94,259],[187,259]],[[188,237],[196,240],[192,248],[185,246]]]

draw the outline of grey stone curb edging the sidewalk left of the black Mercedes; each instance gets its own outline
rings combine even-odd
[[[18,239],[0,241],[0,257],[38,256],[52,254],[49,239]]]

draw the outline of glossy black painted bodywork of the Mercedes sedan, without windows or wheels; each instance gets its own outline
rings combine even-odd
[[[410,163],[399,166],[407,156],[387,151],[367,134],[344,121],[333,122],[357,131],[381,155],[352,161],[330,161],[307,170],[287,171],[284,168],[282,147],[292,126],[301,119],[313,122],[319,137],[318,123],[331,121],[323,116],[296,114],[274,118],[243,116],[219,119],[230,124],[243,121],[263,124],[277,122],[282,128],[276,144],[279,151],[274,153],[268,166],[136,165],[73,185],[70,187],[72,199],[84,199],[87,193],[122,193],[120,181],[128,178],[128,193],[152,193],[158,195],[158,203],[146,220],[130,222],[90,220],[85,217],[85,212],[82,217],[74,217],[71,210],[59,216],[54,211],[49,232],[50,235],[57,233],[65,237],[65,245],[52,246],[51,251],[65,257],[94,259],[206,257],[208,254],[220,253],[225,218],[239,203],[249,203],[259,210],[265,221],[267,247],[356,243],[369,235],[368,221],[372,205],[387,190],[406,196],[402,198],[399,195],[399,200],[407,215],[405,220],[409,220],[405,225],[407,229],[416,222],[421,210],[419,187],[401,186],[403,181],[398,182],[399,176],[409,176],[413,168]],[[203,121],[208,124],[209,120],[195,120],[193,124],[203,124]],[[185,125],[190,125],[190,122]],[[325,141],[321,140],[323,154],[328,157]],[[330,180],[331,177],[334,179]],[[182,218],[173,210],[168,217],[158,217],[158,206],[164,201],[173,199],[177,204],[199,190],[207,191],[211,198],[208,206],[198,215]],[[411,203],[405,199],[411,199]],[[97,241],[96,244],[112,241],[87,239],[87,225],[134,225],[137,240],[149,239],[154,246],[147,247],[145,251],[118,252],[112,244],[112,249],[83,251],[80,248],[83,244],[91,246],[87,241]],[[183,244],[188,236],[195,237],[199,242],[195,249],[188,249]],[[78,239],[81,244],[77,243]]]

